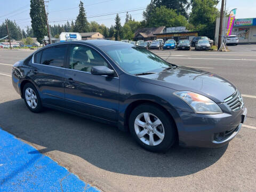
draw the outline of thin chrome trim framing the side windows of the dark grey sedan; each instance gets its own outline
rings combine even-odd
[[[92,47],[92,46],[90,46],[90,45],[87,45],[87,44],[83,44],[83,43],[63,43],[63,44],[58,44],[58,45],[68,45],[68,44],[73,44],[73,45],[75,45],[75,44],[85,45],[85,46],[89,46],[89,47],[91,47],[93,50],[95,50],[94,47]],[[47,49],[48,47],[52,47],[52,46],[58,46],[58,45],[50,45],[50,46],[47,46],[47,47],[44,48],[44,49]],[[44,49],[39,50],[39,51],[43,51]],[[56,66],[49,66],[49,65],[44,65],[44,64],[40,64],[40,63],[34,63],[34,55],[37,54],[39,51],[37,51],[36,53],[33,54],[33,56],[32,56],[32,64],[35,64],[35,65],[42,65],[42,66],[48,66],[48,67],[55,67],[55,68],[66,69],[66,70],[74,70],[74,71],[79,71],[79,72],[83,72],[83,73],[87,73],[87,74],[92,74],[91,72],[87,72],[87,71],[81,71],[81,70],[69,69],[69,68],[65,68],[65,67],[56,67]],[[117,74],[116,69],[111,65],[111,63],[109,63],[109,61],[106,59],[106,57],[105,57],[104,55],[102,55],[98,50],[95,50],[95,51],[97,51],[97,52],[107,61],[107,63],[114,69],[114,71],[115,71],[117,77],[112,77],[112,78],[119,79],[119,75]],[[100,76],[106,76],[106,75],[100,75]]]

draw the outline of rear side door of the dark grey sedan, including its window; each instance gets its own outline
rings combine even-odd
[[[64,75],[67,44],[50,46],[34,54],[31,78],[36,83],[42,102],[65,107]]]

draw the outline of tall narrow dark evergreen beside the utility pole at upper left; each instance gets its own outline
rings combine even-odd
[[[37,41],[42,44],[42,40],[47,35],[46,17],[43,0],[30,0],[31,27]]]

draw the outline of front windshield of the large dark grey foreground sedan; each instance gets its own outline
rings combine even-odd
[[[115,63],[130,74],[159,73],[172,64],[150,51],[132,44],[101,46]]]

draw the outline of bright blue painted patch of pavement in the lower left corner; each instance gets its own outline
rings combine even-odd
[[[100,192],[1,127],[0,191]]]

